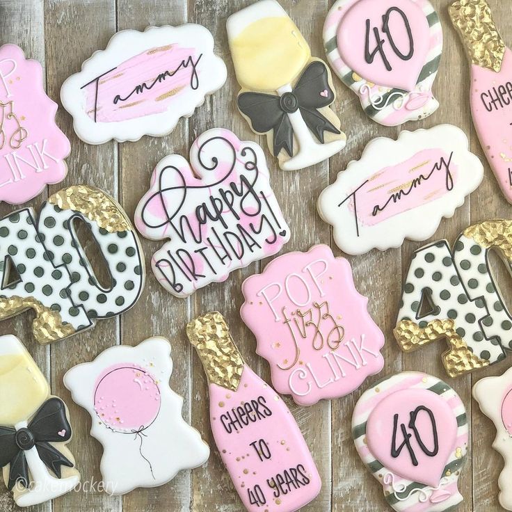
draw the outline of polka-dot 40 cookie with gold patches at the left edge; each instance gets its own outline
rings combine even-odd
[[[77,237],[88,226],[109,282],[99,282]],[[88,185],[51,195],[40,210],[0,220],[0,321],[32,309],[40,343],[79,333],[129,310],[141,296],[144,258],[129,218],[113,198]]]

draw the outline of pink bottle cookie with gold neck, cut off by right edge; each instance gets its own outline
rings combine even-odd
[[[486,0],[457,0],[449,13],[470,59],[474,127],[499,186],[512,203],[512,51],[499,35]]]

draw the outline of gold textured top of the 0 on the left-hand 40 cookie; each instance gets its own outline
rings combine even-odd
[[[50,195],[48,201],[63,210],[79,211],[109,233],[133,231],[118,202],[95,186],[68,186]]]

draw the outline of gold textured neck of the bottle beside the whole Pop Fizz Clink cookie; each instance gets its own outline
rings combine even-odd
[[[221,313],[214,311],[192,320],[186,335],[198,351],[209,383],[237,391],[244,363]]]

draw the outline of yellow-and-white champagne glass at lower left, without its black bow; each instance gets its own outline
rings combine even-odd
[[[26,429],[29,420],[50,396],[45,376],[17,337],[0,341],[0,425]],[[58,479],[49,474],[33,446],[24,451],[31,487],[16,498],[19,506],[31,506],[61,496],[79,483],[79,476]],[[7,468],[3,469],[4,472]]]

